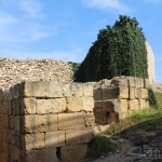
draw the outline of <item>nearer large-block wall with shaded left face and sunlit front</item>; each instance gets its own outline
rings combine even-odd
[[[1,162],[84,159],[94,136],[93,85],[35,81],[4,91]]]

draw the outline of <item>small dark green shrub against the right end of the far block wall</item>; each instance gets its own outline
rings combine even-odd
[[[156,94],[151,87],[148,89],[148,102],[150,106],[158,108]]]

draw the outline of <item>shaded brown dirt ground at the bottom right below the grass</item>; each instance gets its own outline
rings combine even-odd
[[[116,154],[100,157],[93,162],[162,162],[162,130],[149,132],[139,129],[129,130],[113,136],[112,139],[120,144],[120,150]],[[146,157],[127,154],[137,147],[147,150]]]

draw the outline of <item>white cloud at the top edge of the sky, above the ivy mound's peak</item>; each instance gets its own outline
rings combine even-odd
[[[129,12],[129,6],[121,3],[119,0],[83,0],[83,3],[89,8],[100,10],[118,10]]]

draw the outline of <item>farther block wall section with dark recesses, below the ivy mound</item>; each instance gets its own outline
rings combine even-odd
[[[133,77],[102,80],[94,86],[96,123],[110,124],[125,119],[133,111],[148,108],[149,81]]]

